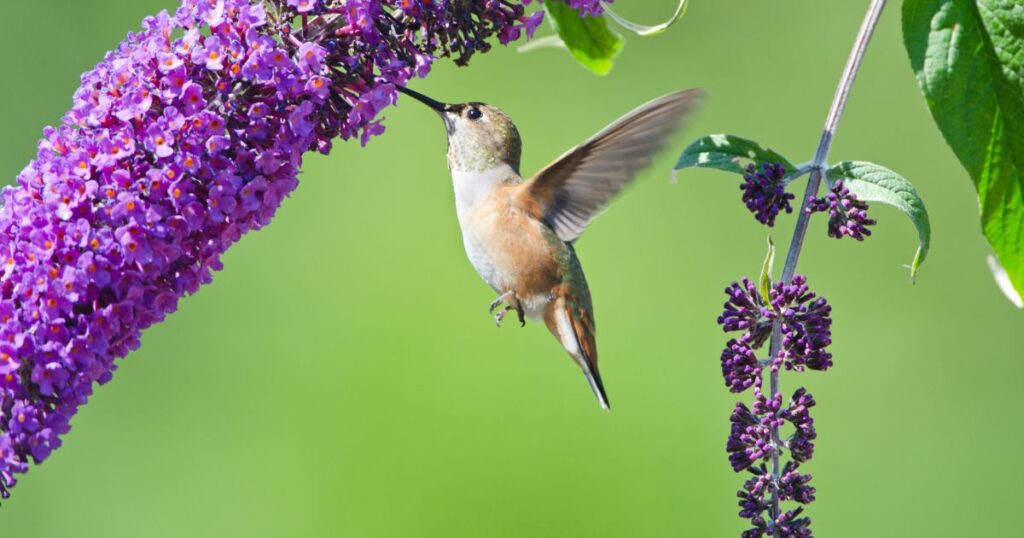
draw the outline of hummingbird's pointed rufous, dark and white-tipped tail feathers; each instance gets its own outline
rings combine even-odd
[[[583,299],[583,301],[579,300]],[[558,338],[569,357],[580,366],[587,383],[604,410],[610,410],[608,395],[597,368],[597,342],[594,339],[594,316],[590,306],[590,296],[575,297],[563,290],[548,303],[544,321],[551,334]]]

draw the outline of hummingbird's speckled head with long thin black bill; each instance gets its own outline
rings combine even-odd
[[[519,130],[500,109],[475,101],[446,105],[400,86],[398,91],[431,108],[444,121],[453,171],[485,171],[505,164],[519,173]]]

